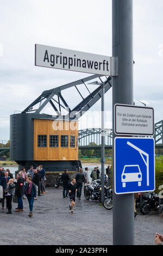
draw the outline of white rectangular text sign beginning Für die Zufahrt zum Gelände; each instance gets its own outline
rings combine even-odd
[[[154,135],[154,109],[115,104],[114,132],[116,135]]]

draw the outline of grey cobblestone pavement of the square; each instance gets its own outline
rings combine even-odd
[[[82,196],[71,215],[62,188],[46,188],[46,192],[34,202],[32,218],[27,199],[23,212],[15,212],[15,203],[12,215],[0,207],[0,245],[112,245],[112,210]],[[135,244],[154,245],[155,232],[163,233],[162,223],[163,216],[154,211],[136,216]]]

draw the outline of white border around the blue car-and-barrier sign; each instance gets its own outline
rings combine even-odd
[[[133,192],[120,192],[120,193],[117,193],[116,192],[116,139],[153,139],[154,141],[154,138],[137,138],[137,137],[115,137],[114,138],[114,192],[116,194],[133,194],[133,193],[140,193],[140,192],[151,192],[151,191],[154,191],[155,190],[155,147],[154,147],[154,190],[145,190],[145,191],[133,191]],[[154,141],[154,145],[155,145],[155,141]]]

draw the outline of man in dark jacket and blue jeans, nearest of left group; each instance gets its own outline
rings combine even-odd
[[[27,178],[27,186],[26,186],[26,197],[29,203],[29,214],[28,216],[31,217],[33,215],[33,203],[36,199],[37,191],[36,185],[33,183],[32,178]]]

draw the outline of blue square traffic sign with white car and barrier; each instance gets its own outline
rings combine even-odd
[[[116,194],[155,190],[153,138],[115,138],[114,186]]]

